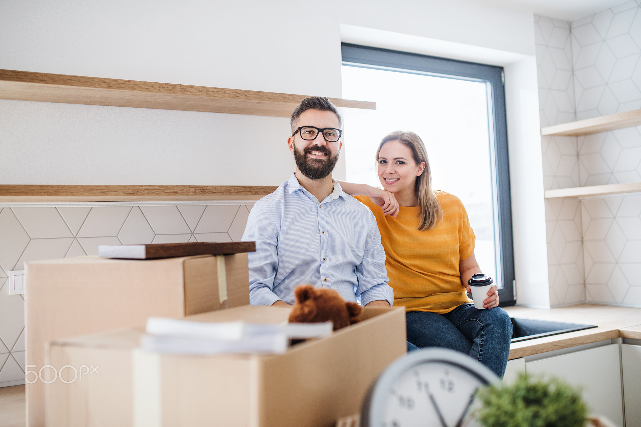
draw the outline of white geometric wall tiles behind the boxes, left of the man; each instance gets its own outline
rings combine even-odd
[[[233,202],[231,202],[233,203]],[[0,387],[24,382],[24,298],[8,271],[23,262],[97,255],[99,245],[240,241],[252,205],[0,208]]]

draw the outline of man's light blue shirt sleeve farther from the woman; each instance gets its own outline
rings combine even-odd
[[[249,303],[272,305],[281,299],[273,292],[274,277],[278,271],[278,229],[262,204],[256,203],[251,209],[242,240],[256,242],[256,252],[247,254]]]

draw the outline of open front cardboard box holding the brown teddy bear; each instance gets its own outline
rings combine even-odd
[[[248,305],[190,319],[273,323],[289,312]],[[142,328],[53,341],[52,366],[100,367],[75,380],[67,367],[67,383],[47,385],[47,426],[333,426],[406,352],[404,307],[365,307],[362,319],[282,355],[148,353]]]

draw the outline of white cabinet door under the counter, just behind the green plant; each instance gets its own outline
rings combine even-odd
[[[590,413],[604,415],[617,426],[623,426],[619,344],[526,361],[526,371],[528,375],[558,376],[582,387]]]

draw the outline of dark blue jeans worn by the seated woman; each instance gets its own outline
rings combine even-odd
[[[500,307],[479,310],[463,304],[449,313],[406,313],[408,351],[444,347],[478,360],[503,377],[510,354],[512,321]]]

